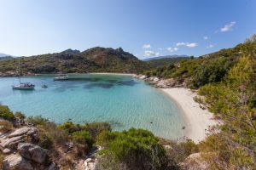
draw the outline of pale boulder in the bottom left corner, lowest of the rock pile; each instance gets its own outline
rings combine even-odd
[[[26,160],[19,154],[11,154],[3,160],[3,169],[34,170],[31,161]]]

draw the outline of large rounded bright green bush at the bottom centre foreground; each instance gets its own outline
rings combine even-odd
[[[100,169],[166,169],[166,152],[147,130],[105,131],[97,142],[104,147]]]

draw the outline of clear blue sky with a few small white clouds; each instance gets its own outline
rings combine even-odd
[[[123,48],[199,56],[256,33],[254,0],[0,0],[0,53]]]

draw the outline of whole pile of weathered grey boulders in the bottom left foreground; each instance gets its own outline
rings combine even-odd
[[[0,148],[5,155],[3,169],[55,170],[55,164],[49,166],[49,150],[24,143],[26,139],[37,136],[36,127],[21,127],[13,133],[0,133]]]

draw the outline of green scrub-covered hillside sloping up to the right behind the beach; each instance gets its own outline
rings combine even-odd
[[[255,51],[255,42],[245,42],[236,45],[235,48],[221,49],[198,58],[184,59],[178,65],[163,65],[143,73],[148,76],[177,78],[180,82],[186,82],[189,88],[200,88],[210,82],[222,81],[241,56],[253,56]]]

